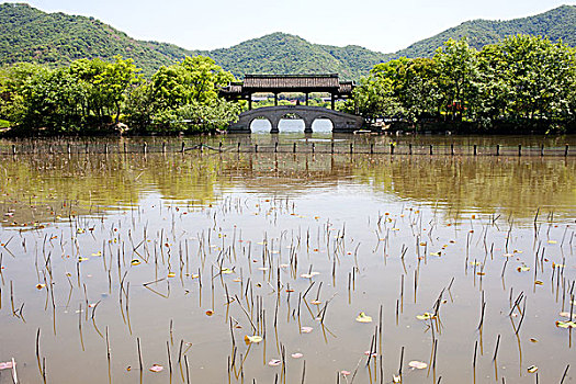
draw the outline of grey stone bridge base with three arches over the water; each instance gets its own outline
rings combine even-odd
[[[236,123],[228,127],[230,133],[250,133],[250,125],[256,118],[266,118],[272,126],[270,133],[278,133],[280,120],[295,116],[304,121],[304,132],[312,133],[312,124],[317,118],[327,118],[332,123],[334,133],[349,133],[362,127],[363,118],[349,113],[327,110],[320,106],[278,105],[245,111]]]

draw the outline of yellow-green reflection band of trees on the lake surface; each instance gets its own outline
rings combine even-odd
[[[318,139],[321,139],[318,138]],[[149,193],[202,205],[223,191],[294,196],[339,185],[362,187],[372,197],[440,204],[445,211],[478,211],[528,219],[538,208],[575,215],[576,161],[557,158],[416,157],[313,154],[199,154],[147,156],[54,155],[4,157],[0,166],[4,211],[20,202],[5,223],[45,219],[22,206],[65,201],[77,210],[125,207]],[[52,203],[50,203],[52,202]],[[57,205],[60,205],[58,208]],[[37,210],[36,210],[37,211]],[[26,219],[20,217],[25,214]],[[44,218],[43,218],[44,217]]]

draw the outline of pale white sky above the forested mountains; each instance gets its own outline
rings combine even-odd
[[[2,1],[7,2],[7,1]],[[395,52],[473,19],[533,15],[575,0],[30,0],[46,12],[94,16],[139,39],[189,49],[229,47],[272,32],[312,43]]]

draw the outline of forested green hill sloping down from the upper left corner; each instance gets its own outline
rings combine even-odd
[[[27,4],[0,4],[0,64],[60,66],[79,58],[135,59],[145,72],[193,55],[172,44],[142,42],[93,18],[46,13]]]

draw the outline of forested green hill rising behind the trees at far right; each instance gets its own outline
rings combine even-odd
[[[458,39],[463,36],[467,38],[471,46],[481,49],[487,44],[495,44],[501,38],[517,34],[547,36],[552,42],[562,39],[574,47],[576,46],[576,5],[562,5],[523,19],[467,21],[398,50],[394,56],[431,57],[447,39]]]

